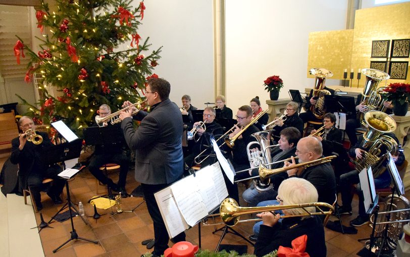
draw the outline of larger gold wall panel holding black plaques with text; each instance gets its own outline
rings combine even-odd
[[[370,58],[373,40],[404,38],[410,38],[410,3],[357,10],[354,19],[352,68],[357,72],[359,68],[370,68],[370,61],[386,61],[386,58]],[[409,58],[393,58],[392,61],[409,61]],[[407,71],[405,81],[409,81],[409,73]],[[387,84],[403,81],[388,79]],[[360,86],[363,87],[364,83],[365,80],[362,79]],[[380,84],[384,85],[384,82]]]

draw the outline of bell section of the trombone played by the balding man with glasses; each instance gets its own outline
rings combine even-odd
[[[261,164],[259,166],[259,177],[260,177],[260,182],[263,185],[268,185],[271,183],[271,179],[269,178],[270,176],[282,173],[282,172],[286,172],[289,169],[294,169],[294,168],[298,168],[298,167],[312,167],[312,166],[316,166],[319,164],[323,164],[326,162],[330,162],[332,161],[332,159],[336,158],[336,155],[330,155],[330,156],[326,156],[323,158],[319,158],[316,160],[312,160],[312,161],[306,161],[306,162],[302,162],[302,163],[298,163],[292,166],[287,166],[287,167],[282,167],[282,168],[275,168],[275,169],[269,169],[266,168],[264,164]],[[255,187],[256,188],[256,187]]]

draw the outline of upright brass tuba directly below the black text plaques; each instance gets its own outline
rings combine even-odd
[[[377,89],[377,86],[380,81],[389,79],[389,74],[376,69],[363,69],[362,73],[366,76],[366,82],[362,92],[362,103],[367,106],[367,111],[386,111],[386,107],[383,105],[386,100],[382,97],[382,91],[385,87]],[[363,126],[366,125],[364,116],[365,113],[363,112],[358,112],[356,115],[357,120],[360,121]]]

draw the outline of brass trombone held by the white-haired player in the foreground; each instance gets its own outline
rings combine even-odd
[[[310,211],[309,207],[316,207],[316,211]],[[261,221],[262,219],[248,219],[239,221],[241,215],[251,214],[255,212],[262,211],[275,211],[275,210],[284,210],[284,209],[295,209],[301,208],[305,213],[300,213],[298,215],[283,215],[280,218],[292,218],[292,217],[305,217],[305,216],[316,216],[316,215],[332,215],[334,208],[332,205],[326,202],[311,202],[311,203],[299,203],[299,204],[288,204],[288,205],[271,205],[271,206],[262,206],[262,207],[240,207],[238,203],[232,198],[226,198],[222,201],[219,208],[219,214],[210,215],[208,217],[215,217],[219,215],[221,217],[221,223],[208,224],[204,223],[204,226],[214,226],[226,224],[229,227],[235,226],[238,223],[243,222],[252,222],[252,221]],[[324,208],[329,210],[325,211]],[[326,219],[325,219],[326,220]]]

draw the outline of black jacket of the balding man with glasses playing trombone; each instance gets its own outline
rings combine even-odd
[[[324,157],[324,156],[322,156]],[[336,197],[336,179],[329,162],[307,167],[299,176],[290,176],[305,179],[318,190],[319,202],[333,204]]]

